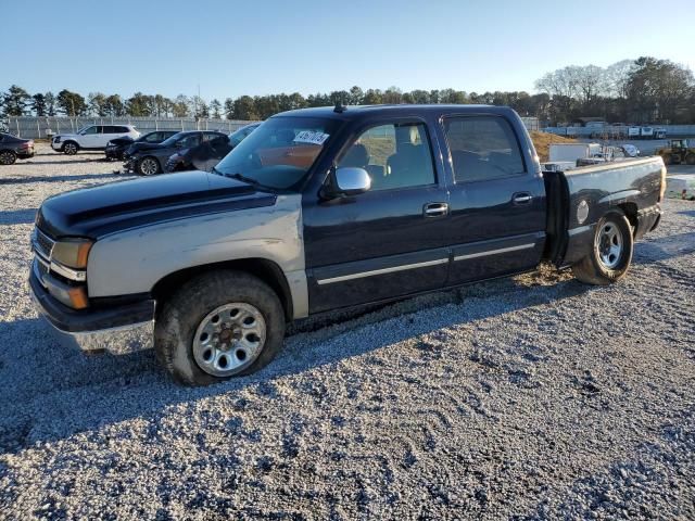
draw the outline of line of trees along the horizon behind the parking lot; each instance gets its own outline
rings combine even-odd
[[[567,66],[545,74],[535,81],[536,93],[467,92],[464,90],[386,90],[358,86],[350,90],[315,93],[241,96],[210,102],[193,96],[136,92],[130,98],[90,92],[87,98],[63,89],[58,94],[30,94],[10,86],[0,93],[4,116],[155,116],[227,119],[265,119],[278,112],[307,106],[400,103],[482,103],[508,105],[522,116],[536,116],[549,124],[567,124],[581,116],[602,117],[616,123],[695,123],[695,80],[693,73],[669,60],[644,56],[623,60],[608,67]]]

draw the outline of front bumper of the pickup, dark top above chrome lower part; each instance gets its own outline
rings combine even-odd
[[[29,275],[29,293],[37,310],[56,331],[62,344],[81,351],[127,353],[151,347],[154,301],[76,310],[58,302],[41,284],[36,260]]]

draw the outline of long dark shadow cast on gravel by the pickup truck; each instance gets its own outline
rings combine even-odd
[[[304,323],[290,331],[281,353],[262,371],[195,389],[176,385],[156,364],[153,351],[87,356],[53,340],[43,319],[0,322],[0,338],[5,339],[0,380],[7,383],[0,386],[0,454],[132,418],[156,422],[172,406],[193,406],[213,396],[230,404],[267,399],[277,395],[275,381],[283,377],[586,291],[591,288],[567,276],[549,284],[523,276],[410,298],[366,315],[343,316],[328,326]],[[389,331],[388,340],[383,331]],[[296,392],[315,392],[294,384]]]

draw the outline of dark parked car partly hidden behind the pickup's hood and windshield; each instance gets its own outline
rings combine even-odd
[[[165,171],[203,170],[210,171],[219,161],[231,152],[243,139],[253,132],[261,123],[244,125],[229,136],[203,141],[191,149],[180,149],[166,162]]]

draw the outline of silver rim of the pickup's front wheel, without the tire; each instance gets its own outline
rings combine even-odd
[[[263,314],[251,304],[232,302],[203,318],[193,336],[193,358],[214,377],[230,377],[255,360],[265,345]]]

